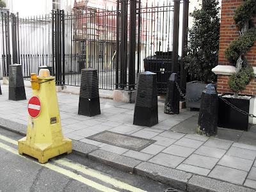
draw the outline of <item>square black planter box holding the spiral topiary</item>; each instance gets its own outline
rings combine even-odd
[[[228,97],[224,97],[224,99],[236,106],[237,108],[249,113],[250,99]],[[218,127],[248,131],[248,120],[249,118],[247,115],[244,115],[236,109],[231,108],[228,104],[226,104],[223,100],[219,98]]]

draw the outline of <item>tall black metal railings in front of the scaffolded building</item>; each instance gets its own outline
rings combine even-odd
[[[81,69],[92,67],[98,70],[101,89],[135,88],[144,59],[155,52],[172,51],[173,0],[150,5],[137,2],[133,8],[128,1],[122,2],[118,1],[120,9],[53,10],[49,15],[26,18],[2,12],[1,75],[8,76],[8,65],[20,63],[24,78],[29,79],[39,66],[49,65],[57,84],[79,86]],[[127,6],[126,16],[122,6]]]

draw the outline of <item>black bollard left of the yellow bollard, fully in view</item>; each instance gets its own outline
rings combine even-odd
[[[9,65],[9,100],[26,100],[22,66]]]

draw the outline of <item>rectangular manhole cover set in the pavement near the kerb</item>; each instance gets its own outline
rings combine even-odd
[[[135,136],[129,136],[111,131],[104,131],[98,134],[94,134],[88,137],[88,139],[137,151],[140,151],[143,148],[148,147],[148,145],[156,142],[155,140],[147,140],[144,138],[138,138]]]

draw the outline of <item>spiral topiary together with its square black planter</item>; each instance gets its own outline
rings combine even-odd
[[[249,113],[250,95],[239,94],[254,77],[253,68],[244,57],[256,41],[256,28],[251,18],[256,15],[256,1],[246,0],[237,8],[234,20],[240,36],[227,48],[225,56],[236,67],[236,73],[230,76],[228,86],[234,92],[222,95],[219,103],[218,126],[230,129],[248,130],[248,115],[241,113],[232,106]]]

